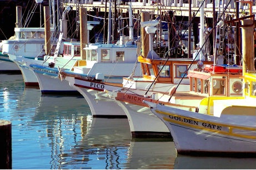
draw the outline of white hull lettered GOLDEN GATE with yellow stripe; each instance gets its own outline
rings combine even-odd
[[[146,103],[168,126],[180,154],[256,154],[255,116],[215,117]]]

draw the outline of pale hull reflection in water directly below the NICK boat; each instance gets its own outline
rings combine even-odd
[[[176,150],[172,138],[133,138],[128,169],[173,169]]]

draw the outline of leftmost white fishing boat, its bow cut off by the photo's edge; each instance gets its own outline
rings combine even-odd
[[[36,6],[38,3],[36,3]],[[22,73],[15,63],[9,59],[9,54],[24,56],[29,59],[43,59],[46,55],[45,50],[45,32],[43,27],[27,27],[27,25],[22,26],[21,23],[21,7],[17,7],[17,28],[14,28],[14,36],[8,40],[2,40],[2,53],[0,55],[1,69],[2,73]],[[34,8],[36,9],[36,8]],[[34,11],[32,11],[34,13]],[[49,33],[53,35],[54,28],[49,29]],[[53,54],[56,48],[56,38],[52,36],[49,38],[49,42],[52,44],[51,53]],[[37,84],[38,85],[38,84]]]

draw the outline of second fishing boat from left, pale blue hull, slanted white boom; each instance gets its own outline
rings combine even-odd
[[[47,9],[46,9],[47,10]],[[36,75],[34,75],[32,70],[29,70],[28,66],[27,66],[27,62],[34,62],[37,63],[39,65],[49,65],[51,66],[51,63],[56,63],[55,61],[57,60],[58,56],[62,56],[61,58],[58,58],[58,64],[59,66],[63,66],[64,64],[67,63],[67,61],[69,61],[71,59],[70,54],[72,53],[78,53],[76,47],[77,47],[77,40],[74,39],[68,39],[67,38],[67,29],[64,27],[67,27],[67,20],[65,20],[66,18],[66,14],[71,10],[70,7],[67,7],[64,11],[63,11],[63,16],[62,19],[59,20],[59,22],[61,23],[60,25],[62,25],[61,27],[61,32],[59,33],[59,38],[55,39],[54,38],[54,43],[49,43],[47,41],[44,41],[42,44],[42,47],[44,47],[44,53],[43,56],[39,55],[39,53],[34,54],[33,56],[31,56],[31,58],[27,58],[24,55],[17,55],[17,54],[12,54],[12,53],[8,53],[9,59],[11,61],[13,61],[14,63],[17,64],[18,68],[21,70],[21,73],[23,75],[23,79],[24,79],[24,84],[26,86],[39,86],[38,83],[38,79],[36,77]],[[40,28],[42,30],[42,34],[41,37],[45,37],[45,30],[53,30],[53,28],[49,28],[47,27],[46,24],[46,28]],[[53,39],[53,32],[51,33],[51,38]],[[63,54],[64,51],[64,45],[63,45],[63,39],[65,39],[66,42],[71,42],[72,44],[70,45],[71,47],[66,48],[66,50],[68,49],[69,51],[66,51],[66,54]],[[44,40],[44,39],[43,39]],[[49,45],[48,45],[49,43]],[[46,48],[47,46],[52,46],[54,47],[54,52],[51,52],[51,50],[49,50],[49,48]],[[33,48],[33,47],[31,47]],[[79,48],[79,47],[78,47]],[[40,53],[41,54],[41,53]],[[49,54],[49,55],[46,55]],[[32,55],[32,54],[31,54]],[[77,54],[78,55],[78,54]],[[74,58],[77,58],[77,56],[74,56]],[[72,63],[72,62],[71,62]]]

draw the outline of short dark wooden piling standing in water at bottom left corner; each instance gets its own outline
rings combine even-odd
[[[12,123],[0,120],[0,169],[12,169]]]

